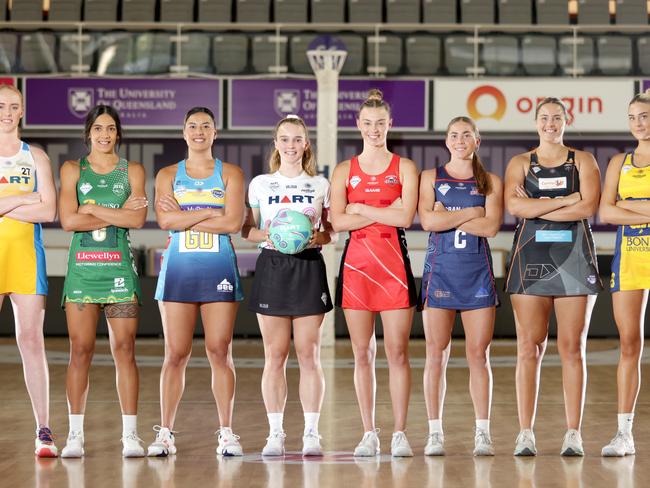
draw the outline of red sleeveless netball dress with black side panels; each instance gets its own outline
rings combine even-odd
[[[349,203],[388,207],[402,196],[400,157],[386,171],[364,173],[357,157],[350,160]],[[404,229],[373,223],[350,232],[339,269],[336,304],[342,308],[380,312],[408,308],[416,302],[415,280]]]

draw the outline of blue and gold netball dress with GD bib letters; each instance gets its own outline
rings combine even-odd
[[[208,178],[191,178],[178,163],[173,188],[181,210],[223,208],[226,188],[222,163],[215,160]],[[230,236],[185,229],[171,231],[158,276],[156,300],[234,302],[243,299],[237,259]]]

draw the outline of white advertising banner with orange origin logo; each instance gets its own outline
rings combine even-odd
[[[466,115],[483,132],[533,132],[535,107],[544,98],[567,106],[567,132],[628,132],[627,106],[634,80],[518,78],[506,80],[435,80],[434,129]]]

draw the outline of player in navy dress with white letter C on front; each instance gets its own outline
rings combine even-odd
[[[476,416],[474,455],[494,455],[489,430],[489,351],[498,297],[487,237],[493,237],[501,226],[503,185],[499,177],[485,171],[476,153],[479,143],[471,119],[452,119],[445,141],[449,162],[424,171],[420,178],[420,223],[431,232],[420,293],[427,344],[424,396],[429,436],[424,453],[428,456],[444,454],[445,374],[457,310],[465,329]]]

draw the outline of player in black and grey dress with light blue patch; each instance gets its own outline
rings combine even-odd
[[[506,278],[517,328],[516,456],[537,452],[532,429],[553,310],[567,422],[560,453],[584,455],[587,330],[602,289],[587,219],[598,208],[600,173],[591,154],[564,145],[567,121],[561,100],[542,100],[535,110],[539,146],[512,158],[506,169],[505,205],[520,219]]]

